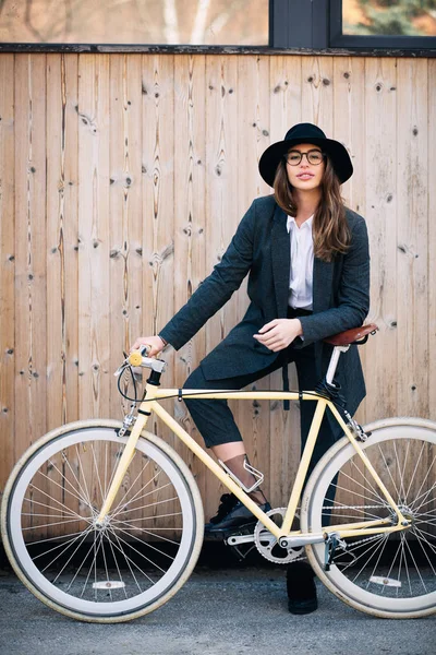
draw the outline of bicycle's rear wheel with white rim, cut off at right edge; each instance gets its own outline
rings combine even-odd
[[[399,533],[347,537],[325,570],[325,546],[307,547],[324,584],[352,607],[384,618],[436,612],[436,424],[413,418],[377,421],[362,450],[410,520]],[[319,461],[302,501],[302,528],[374,521],[396,523],[371,473],[347,438]]]

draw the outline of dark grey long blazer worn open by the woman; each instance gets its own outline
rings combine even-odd
[[[325,374],[331,346],[323,338],[362,325],[370,308],[370,254],[365,221],[347,210],[351,243],[346,254],[332,262],[314,260],[313,314],[301,318],[304,341],[315,343],[319,378]],[[278,353],[259,344],[253,334],[265,323],[287,318],[290,243],[287,215],[272,195],[256,199],[211,274],[167,323],[159,335],[177,350],[181,348],[229,300],[247,273],[251,300],[243,320],[201,366],[207,380],[259,371],[272,364]],[[341,357],[337,379],[344,391],[348,409],[354,413],[365,396],[365,383],[356,346]]]

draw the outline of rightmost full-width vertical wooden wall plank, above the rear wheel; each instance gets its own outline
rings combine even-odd
[[[398,403],[428,414],[427,61],[398,60]]]

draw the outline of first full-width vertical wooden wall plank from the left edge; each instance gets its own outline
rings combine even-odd
[[[15,457],[47,429],[46,56],[15,57]]]

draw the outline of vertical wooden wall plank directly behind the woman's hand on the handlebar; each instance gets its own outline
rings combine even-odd
[[[143,57],[143,325],[142,334],[157,334],[174,313],[174,58]],[[166,354],[173,381],[173,353]],[[171,412],[171,401],[164,401]],[[148,428],[173,444],[166,426]]]

